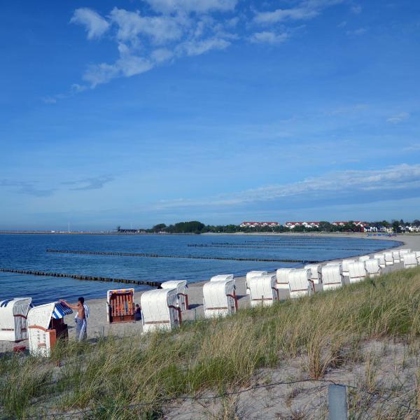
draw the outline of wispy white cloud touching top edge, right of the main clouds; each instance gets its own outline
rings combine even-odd
[[[293,8],[276,9],[267,12],[256,12],[255,22],[260,24],[274,24],[284,20],[309,20],[315,18],[321,10],[343,0],[304,0],[297,3]]]

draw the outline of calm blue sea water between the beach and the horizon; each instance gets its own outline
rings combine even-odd
[[[228,243],[237,248],[226,247]],[[120,279],[207,280],[216,274],[243,275],[251,269],[274,270],[298,267],[285,262],[235,260],[194,260],[179,258],[139,258],[106,255],[47,253],[47,248],[157,253],[165,255],[203,255],[241,258],[330,260],[372,253],[398,241],[360,238],[237,236],[237,235],[0,235],[0,267],[33,269]],[[189,245],[205,245],[196,247]],[[216,246],[215,246],[216,245]],[[80,281],[48,276],[0,272],[0,300],[31,296],[35,304],[59,298],[76,300],[106,297],[106,290],[121,283]],[[132,286],[130,286],[132,287]],[[144,286],[136,286],[136,290]]]

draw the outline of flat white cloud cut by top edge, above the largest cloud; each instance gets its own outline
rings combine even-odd
[[[237,0],[145,0],[154,10],[162,13],[176,11],[205,13],[233,10]]]

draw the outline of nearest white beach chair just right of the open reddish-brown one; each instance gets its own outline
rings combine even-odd
[[[140,297],[143,332],[172,330],[182,323],[176,288],[148,290]]]

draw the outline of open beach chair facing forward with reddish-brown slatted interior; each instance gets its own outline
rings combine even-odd
[[[106,292],[106,319],[109,323],[134,322],[134,288]]]

